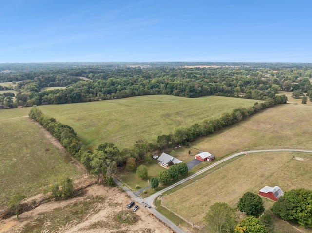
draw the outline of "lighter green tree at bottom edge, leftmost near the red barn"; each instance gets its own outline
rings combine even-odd
[[[232,233],[235,221],[235,211],[227,203],[216,202],[211,205],[204,217],[207,228],[212,233]]]

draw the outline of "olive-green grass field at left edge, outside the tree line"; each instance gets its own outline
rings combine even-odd
[[[12,111],[0,113],[12,116],[7,114]],[[82,176],[72,158],[53,145],[30,118],[4,120],[0,116],[0,206],[17,193],[26,197],[41,193],[53,176]]]

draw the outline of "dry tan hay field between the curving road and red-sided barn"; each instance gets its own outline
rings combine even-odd
[[[249,154],[163,197],[162,204],[190,222],[202,225],[205,212],[213,203],[226,202],[235,207],[245,192],[257,193],[265,185],[278,185],[284,192],[300,187],[311,189],[311,168],[311,154]],[[266,202],[266,208],[272,205],[272,201]]]

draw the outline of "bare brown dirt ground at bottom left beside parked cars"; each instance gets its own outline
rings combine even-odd
[[[92,202],[92,200],[97,199],[97,202]],[[54,219],[55,215],[53,213],[63,213],[65,216],[70,215],[73,206],[88,202],[93,203],[92,205],[90,204],[92,208],[88,209],[86,213],[82,213],[81,219],[71,219],[63,224],[59,223],[59,219]],[[0,233],[28,232],[27,227],[36,225],[38,222],[40,222],[40,226],[38,226],[39,232],[50,232],[52,228],[55,233],[173,232],[140,204],[138,204],[139,209],[137,212],[128,210],[126,205],[129,202],[131,202],[131,199],[118,188],[93,185],[86,188],[85,194],[80,197],[45,203],[31,211],[22,213],[19,221],[16,220],[15,216],[0,221]],[[132,216],[135,221],[126,223],[117,220],[116,216],[121,213],[122,207],[123,214]],[[58,217],[61,218],[60,216]],[[54,226],[53,224],[56,225]]]

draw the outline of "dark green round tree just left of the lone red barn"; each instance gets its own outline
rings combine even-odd
[[[263,211],[263,201],[260,196],[251,192],[247,192],[241,197],[237,203],[237,208],[247,215],[258,217]]]

